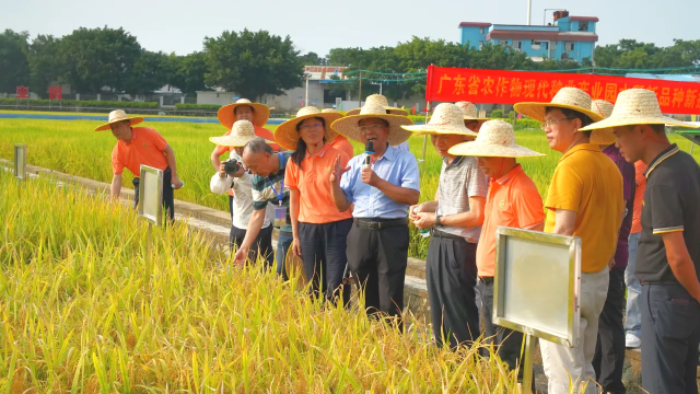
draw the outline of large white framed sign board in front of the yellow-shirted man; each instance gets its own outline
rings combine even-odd
[[[581,239],[499,227],[493,323],[576,346]]]

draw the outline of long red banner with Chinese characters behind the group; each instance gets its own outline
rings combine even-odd
[[[654,91],[665,114],[700,114],[700,83],[580,73],[457,69],[430,66],[425,101],[490,104],[549,102],[561,88],[573,86],[593,100],[615,103],[633,88]]]

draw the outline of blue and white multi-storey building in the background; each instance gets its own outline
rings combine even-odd
[[[569,16],[569,11],[556,11],[553,23],[547,25],[506,25],[485,22],[462,22],[462,45],[480,49],[486,44],[503,45],[525,53],[530,59],[541,61],[571,59],[593,61],[595,16]]]

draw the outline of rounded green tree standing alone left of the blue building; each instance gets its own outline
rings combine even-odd
[[[205,82],[259,100],[302,85],[304,69],[289,36],[282,39],[266,31],[223,32],[205,38],[209,71]]]

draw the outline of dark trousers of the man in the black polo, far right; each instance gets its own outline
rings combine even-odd
[[[676,283],[642,283],[642,387],[697,394],[700,304]]]

